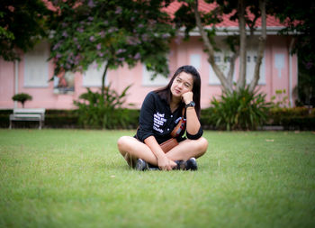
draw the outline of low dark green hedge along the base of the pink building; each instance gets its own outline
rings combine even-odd
[[[204,130],[215,130],[215,123],[211,119],[213,108],[202,109],[201,123]],[[124,127],[117,126],[118,129],[136,129],[139,124],[139,110],[125,109],[123,111],[127,118]],[[9,127],[9,115],[12,109],[0,110],[0,128]],[[38,123],[14,123],[15,127],[36,127]],[[282,126],[284,130],[315,130],[315,109],[305,107],[277,108],[269,112],[269,121],[266,126]],[[81,128],[78,123],[76,110],[46,110],[45,128]]]

